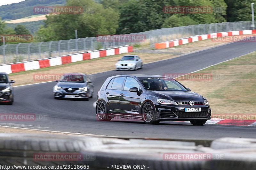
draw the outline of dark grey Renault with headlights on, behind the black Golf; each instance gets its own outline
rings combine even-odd
[[[58,98],[75,98],[85,99],[92,98],[94,86],[89,76],[83,73],[66,73],[53,87],[54,99]]]

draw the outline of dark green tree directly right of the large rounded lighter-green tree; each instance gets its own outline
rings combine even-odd
[[[172,0],[127,0],[119,7],[120,20],[117,33],[136,33],[161,28],[168,14],[163,6]]]

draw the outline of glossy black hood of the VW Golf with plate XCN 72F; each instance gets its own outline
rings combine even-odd
[[[179,92],[179,91],[148,91],[159,98],[173,101],[204,101],[203,96],[195,92]]]

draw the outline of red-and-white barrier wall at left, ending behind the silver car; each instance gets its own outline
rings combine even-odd
[[[109,55],[129,53],[132,51],[133,51],[132,46],[124,46],[124,47],[118,47],[118,48],[112,48],[112,49],[106,49],[106,50],[100,50],[100,51],[86,52],[81,54],[59,56],[59,57],[38,60],[38,61],[0,65],[0,72],[6,72],[7,74],[10,74],[10,73],[15,73],[20,71],[36,70],[40,68],[73,63],[73,62],[88,60],[93,58],[105,57]]]

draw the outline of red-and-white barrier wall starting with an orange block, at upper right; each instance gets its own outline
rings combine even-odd
[[[210,33],[210,34],[205,34],[205,35],[198,35],[198,36],[193,36],[193,37],[189,37],[189,38],[184,38],[184,39],[180,39],[180,40],[155,43],[155,48],[156,49],[170,48],[170,47],[174,47],[174,46],[178,46],[178,45],[182,45],[182,44],[187,44],[189,42],[195,42],[195,41],[206,40],[206,39],[211,39],[211,38],[227,37],[227,36],[233,36],[233,35],[245,35],[245,34],[253,34],[253,33],[256,33],[256,30]]]

